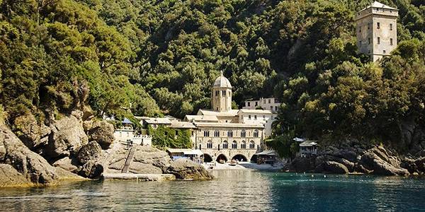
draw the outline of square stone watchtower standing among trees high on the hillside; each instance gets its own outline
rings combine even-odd
[[[356,13],[358,52],[369,54],[371,61],[390,55],[397,47],[398,9],[373,2]]]

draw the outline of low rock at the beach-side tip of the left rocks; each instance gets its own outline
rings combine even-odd
[[[166,174],[173,174],[177,179],[213,179],[214,176],[205,170],[205,167],[187,159],[177,159],[166,170]]]

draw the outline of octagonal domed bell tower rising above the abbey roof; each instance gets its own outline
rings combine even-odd
[[[211,107],[218,112],[227,112],[232,109],[232,85],[220,71],[220,76],[211,86]]]

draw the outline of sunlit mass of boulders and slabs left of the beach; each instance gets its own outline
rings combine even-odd
[[[0,123],[0,187],[60,184],[60,180],[100,179],[123,172],[130,149],[113,143],[113,125],[73,111],[38,123],[32,114],[18,117],[13,131]],[[201,165],[171,161],[164,151],[137,146],[128,173],[172,174],[177,179],[212,179]]]

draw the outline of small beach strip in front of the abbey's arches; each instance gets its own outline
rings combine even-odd
[[[203,163],[207,170],[263,170],[263,171],[278,171],[282,169],[282,165],[256,164],[249,162],[239,162],[237,165],[229,165],[229,163]]]

